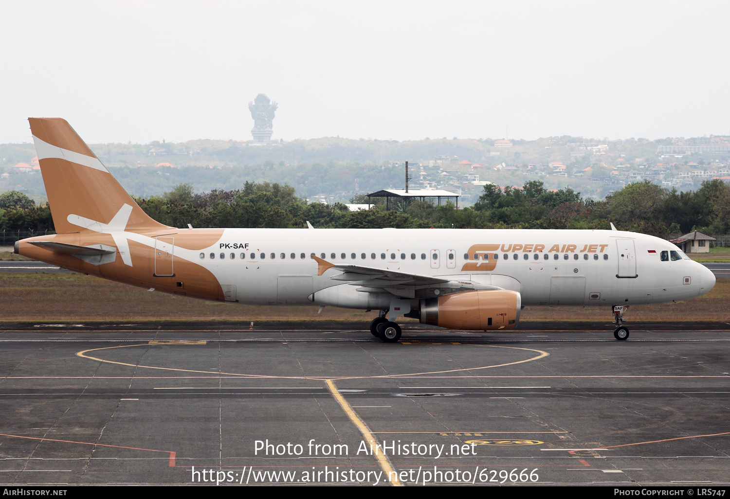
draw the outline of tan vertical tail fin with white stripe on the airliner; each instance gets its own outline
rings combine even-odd
[[[142,211],[66,120],[28,121],[57,233],[167,227]]]

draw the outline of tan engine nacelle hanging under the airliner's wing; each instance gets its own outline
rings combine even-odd
[[[522,298],[512,290],[477,290],[420,301],[420,322],[468,331],[512,329],[520,322]]]

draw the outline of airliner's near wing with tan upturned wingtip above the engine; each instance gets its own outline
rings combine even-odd
[[[315,255],[312,255],[312,259],[318,263],[318,275],[321,276],[330,268],[334,268],[341,273],[331,276],[330,279],[346,282],[352,286],[360,286],[357,290],[363,293],[387,292],[401,298],[426,298],[464,291],[502,289],[467,280],[455,281],[444,277],[423,276],[383,268],[331,263]],[[434,293],[434,290],[439,291]]]

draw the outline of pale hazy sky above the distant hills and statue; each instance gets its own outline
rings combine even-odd
[[[0,143],[730,133],[729,1],[0,0]]]

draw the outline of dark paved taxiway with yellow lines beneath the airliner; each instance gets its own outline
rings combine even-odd
[[[5,325],[0,482],[729,484],[730,325],[521,326]]]

